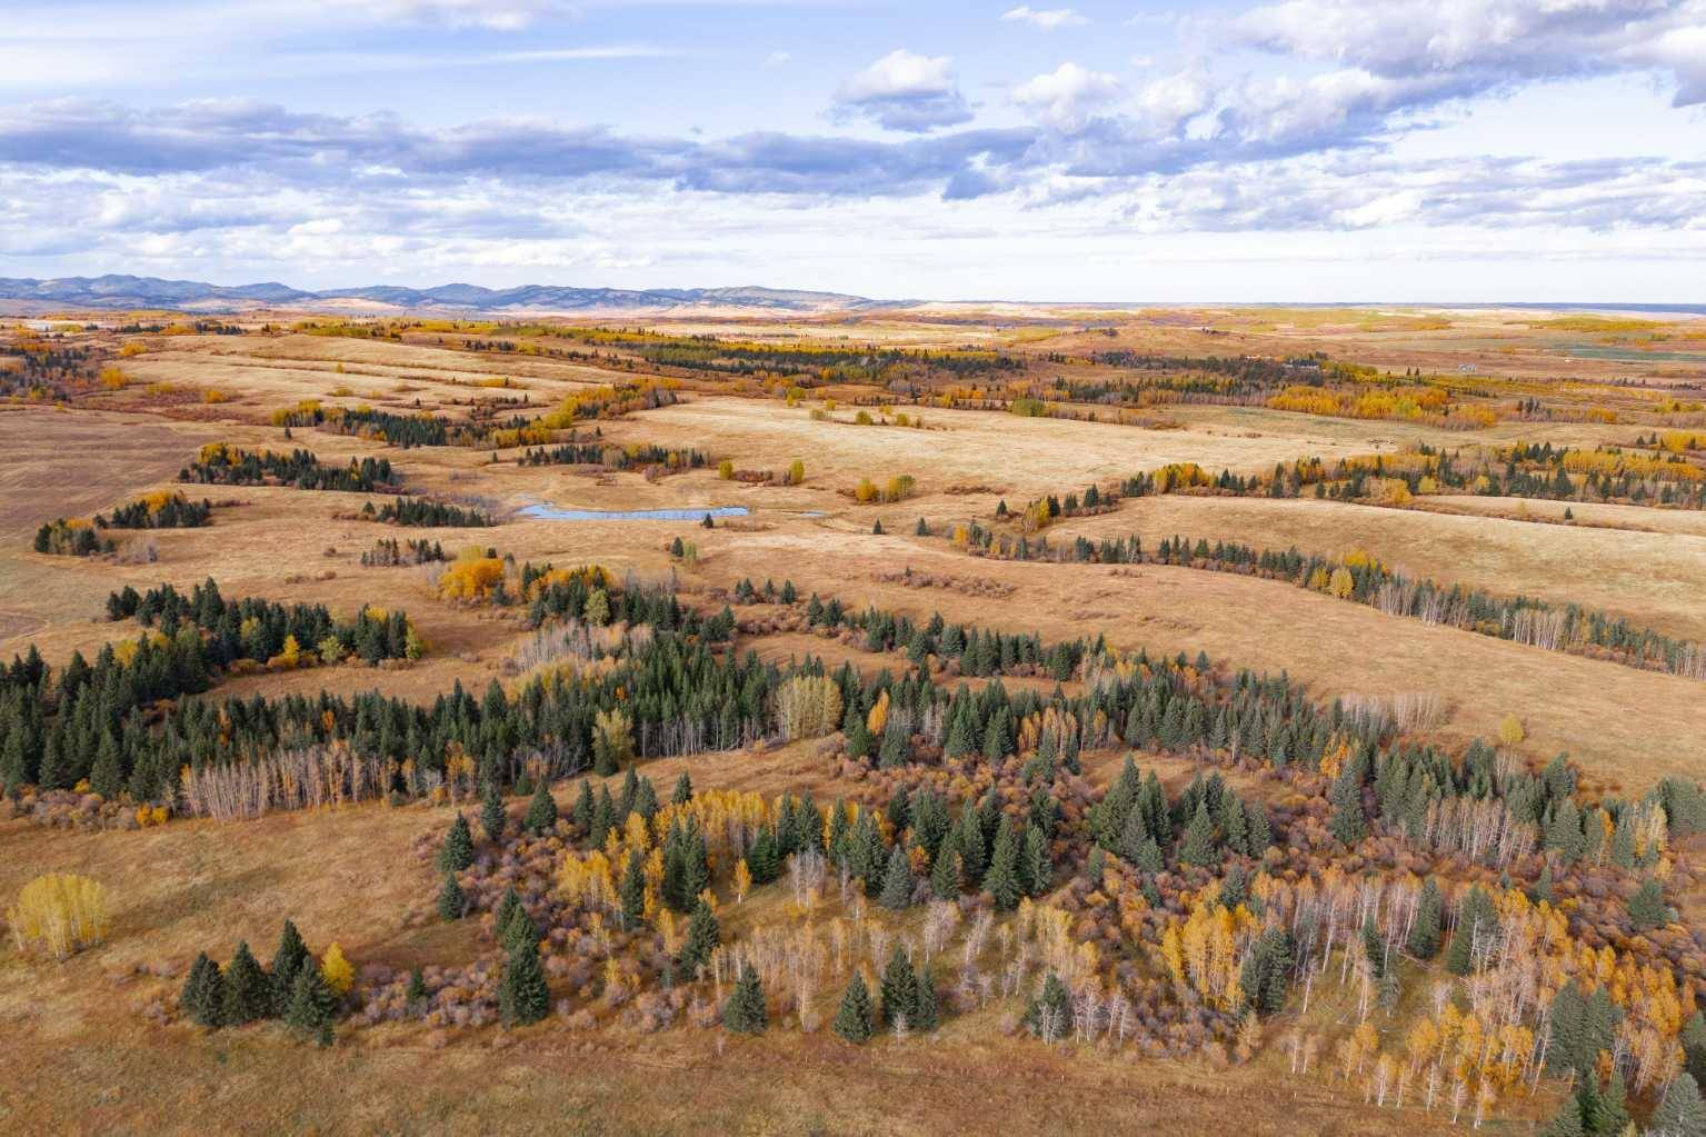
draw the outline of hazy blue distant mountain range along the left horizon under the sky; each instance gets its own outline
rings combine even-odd
[[[48,309],[172,309],[183,312],[242,312],[259,307],[288,307],[338,312],[490,312],[503,316],[563,312],[693,312],[693,311],[763,311],[827,312],[850,309],[906,307],[904,302],[868,300],[839,292],[798,292],[792,289],[570,289],[558,285],[520,285],[517,289],[481,289],[449,283],[437,289],[403,289],[370,285],[363,289],[326,289],[309,292],[276,282],[252,285],[213,285],[200,280],[160,280],[159,277],[60,277],[31,280],[0,277],[0,307],[24,312]]]

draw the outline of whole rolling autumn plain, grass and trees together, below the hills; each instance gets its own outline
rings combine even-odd
[[[0,1123],[1645,1125],[1706,411],[1554,316],[0,326]]]

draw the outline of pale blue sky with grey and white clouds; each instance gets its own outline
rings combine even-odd
[[[9,0],[0,277],[1706,302],[1706,0]]]

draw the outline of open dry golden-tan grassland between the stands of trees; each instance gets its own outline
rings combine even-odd
[[[1087,331],[1102,319],[1116,335]],[[1005,347],[1032,353],[1032,377],[1051,374],[1042,362],[1049,352],[1111,347],[1220,355],[1322,348],[1399,369],[1445,370],[1474,362],[1498,364],[1496,374],[1505,377],[1556,376],[1561,348],[1549,345],[1568,329],[1525,323],[1532,319],[1532,312],[1384,309],[1059,309],[991,318],[955,309],[647,326],[780,343]],[[1201,331],[1204,326],[1223,335]],[[1117,647],[1206,650],[1232,666],[1283,669],[1320,698],[1431,691],[1447,705],[1440,739],[1493,736],[1506,715],[1517,715],[1527,731],[1517,748],[1523,756],[1546,761],[1568,751],[1590,785],[1629,792],[1668,773],[1696,777],[1706,760],[1706,698],[1694,681],[1390,618],[1281,582],[1153,565],[986,562],[940,536],[913,536],[918,517],[937,533],[971,517],[988,522],[1001,499],[1018,509],[1042,493],[1078,492],[1090,481],[1109,483],[1172,461],[1259,473],[1303,456],[1390,452],[1418,442],[1628,442],[1636,430],[1631,425],[1500,422],[1459,434],[1425,423],[1172,405],[1160,408],[1177,423],[1167,430],[931,408],[923,411],[930,429],[914,430],[821,422],[810,417],[810,399],[790,408],[776,398],[718,394],[698,381],[684,384],[681,405],[597,423],[611,442],[698,447],[713,463],[728,458],[740,469],[780,471],[798,458],[805,481],[786,487],[723,481],[715,468],[647,480],[640,473],[519,466],[515,451],[493,461],[491,451],[404,451],[312,429],[285,440],[280,429],[266,425],[273,408],[307,398],[391,410],[413,410],[420,399],[423,410],[461,415],[474,398],[525,394],[536,406],[551,406],[589,382],[636,377],[633,370],[543,357],[450,350],[433,338],[143,336],[145,350],[123,360],[135,379],[123,391],[97,394],[77,410],[0,406],[0,659],[29,644],[53,664],[73,650],[92,654],[136,632],[133,623],[104,620],[102,603],[113,589],[160,582],[188,589],[213,577],[227,596],[314,601],[336,613],[363,604],[403,608],[428,642],[426,657],[406,669],[256,674],[229,681],[222,693],[314,693],[328,686],[428,700],[456,681],[478,693],[507,676],[503,662],[525,637],[519,618],[438,599],[432,568],[360,565],[362,551],[379,538],[428,538],[452,555],[478,545],[519,562],[595,562],[648,579],[676,572],[684,598],[706,606],[744,577],[778,586],[792,579],[802,596],[815,591],[850,606],[870,603],[913,616],[940,609],[949,620],[1036,630],[1044,640],[1105,633]],[[1498,347],[1518,353],[1501,355]],[[1651,391],[1599,386],[1628,374],[1626,365],[1588,360],[1570,374],[1607,399],[1631,406],[1653,399]],[[514,379],[522,389],[479,386],[493,377]],[[229,398],[174,403],[150,394],[148,384],[217,388]],[[350,394],[331,394],[339,388]],[[850,420],[851,411],[834,417]],[[31,533],[43,521],[89,516],[172,488],[177,469],[212,440],[254,449],[304,446],[324,461],[382,454],[411,495],[481,504],[503,524],[397,529],[353,519],[368,500],[360,493],[183,487],[217,504],[213,524],[143,534],[157,546],[154,563],[31,551]],[[918,480],[914,499],[856,505],[844,493],[862,478],[882,483],[897,475]],[[752,516],[708,531],[691,522],[527,521],[512,512],[536,502],[589,509],[747,505]],[[1706,637],[1706,521],[1699,514],[1575,505],[1575,524],[1561,526],[1546,522],[1561,519],[1561,502],[1450,497],[1419,504],[1426,512],[1310,500],[1140,499],[1114,514],[1063,522],[1051,529],[1051,539],[1136,531],[1146,545],[1186,533],[1269,548],[1295,543],[1324,553],[1363,548],[1442,580],[1578,601],[1677,635]],[[1520,519],[1518,509],[1534,519]],[[885,536],[872,534],[877,519]],[[676,536],[696,545],[696,563],[669,557]],[[908,587],[896,580],[906,567],[993,587]],[[759,637],[752,645],[776,661],[810,652],[831,666],[896,662],[800,633]],[[1092,782],[1105,784],[1121,758],[1087,755]],[[1196,772],[1177,758],[1145,758],[1145,765],[1157,767],[1174,789]],[[844,789],[810,746],[662,760],[648,763],[647,773],[662,790],[684,768],[703,787],[764,794],[812,787],[821,799]],[[1261,785],[1237,773],[1232,780],[1244,790]],[[560,801],[572,790],[560,787]],[[63,968],[0,954],[0,1021],[7,1023],[0,1128],[1223,1134],[1228,1117],[1249,1134],[1430,1132],[1438,1125],[1414,1110],[1365,1108],[1355,1091],[1324,1079],[1281,1079],[1280,1047],[1268,1047],[1250,1067],[1058,1052],[1005,1038],[1003,1012],[993,1009],[954,1019],[935,1041],[889,1040],[862,1050],[793,1029],[756,1041],[717,1041],[720,1033],[696,1029],[582,1035],[546,1024],[476,1033],[449,1045],[425,1028],[387,1026],[319,1052],[287,1041],[276,1028],[210,1036],[189,1026],[157,1026],[143,1014],[150,1000],[176,997],[179,980],[138,975],[136,965],[169,961],[181,977],[198,949],[223,954],[239,937],[264,958],[287,913],[310,946],[338,939],[357,965],[466,959],[473,929],[433,918],[437,878],[413,852],[415,840],[442,831],[447,818],[447,811],[426,806],[368,806],[109,833],[0,821],[0,895],[15,895],[39,872],[87,872],[106,883],[118,918],[106,946]],[[1341,1012],[1348,1014],[1326,999],[1312,1009],[1317,1016]],[[1537,1105],[1535,1113],[1542,1111]],[[1527,1132],[1529,1123],[1489,1122],[1484,1128]]]

